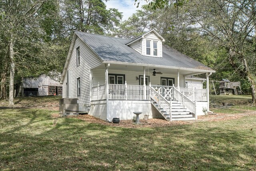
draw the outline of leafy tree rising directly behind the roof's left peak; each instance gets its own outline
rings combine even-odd
[[[74,30],[94,34],[106,34],[113,31],[122,19],[115,8],[106,9],[102,0],[60,0],[61,16],[66,33]]]

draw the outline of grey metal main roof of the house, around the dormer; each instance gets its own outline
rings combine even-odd
[[[168,46],[162,46],[162,58],[143,56],[136,50],[126,46],[130,40],[113,38],[108,36],[76,32],[102,61],[127,62],[133,64],[148,64],[167,67],[190,68],[199,70],[210,70],[211,68],[200,62],[174,50]]]

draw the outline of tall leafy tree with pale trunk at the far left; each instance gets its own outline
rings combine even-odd
[[[14,105],[14,74],[16,54],[21,48],[17,44],[30,42],[30,36],[38,29],[40,13],[38,12],[46,0],[1,0],[0,1],[0,27],[8,46],[8,66],[10,67],[9,105]],[[22,49],[24,50],[24,49]]]

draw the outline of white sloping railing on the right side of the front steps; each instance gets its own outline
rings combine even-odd
[[[182,103],[184,107],[188,108],[190,111],[192,111],[196,115],[196,101],[192,101],[191,99],[186,97],[184,93],[181,93],[176,88],[173,88],[173,97],[174,99],[180,101],[180,103]]]

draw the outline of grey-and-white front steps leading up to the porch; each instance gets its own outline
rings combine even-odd
[[[170,121],[170,113],[165,111],[156,101],[151,100],[152,105],[162,114],[162,116]],[[183,108],[183,105],[179,101],[169,101],[171,104],[172,121],[188,121],[195,120],[194,113],[190,113],[187,108]]]

